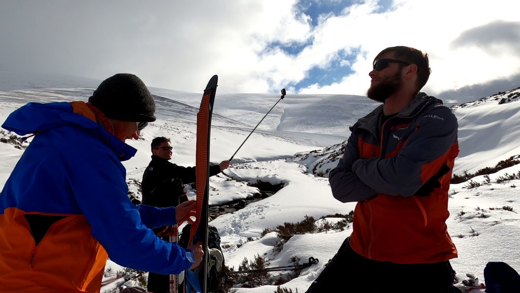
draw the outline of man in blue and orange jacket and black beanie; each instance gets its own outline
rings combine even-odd
[[[121,161],[126,139],[154,121],[155,103],[131,74],[103,81],[84,102],[29,103],[2,125],[34,138],[0,195],[2,292],[99,292],[107,257],[120,265],[178,274],[202,260],[151,228],[180,224],[194,201],[136,207]]]

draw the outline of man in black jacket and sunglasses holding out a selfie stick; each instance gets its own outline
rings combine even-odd
[[[176,206],[188,200],[183,184],[195,182],[195,167],[178,166],[170,162],[172,159],[172,145],[169,138],[157,137],[152,140],[152,161],[146,167],[142,176],[142,204],[167,207]],[[229,161],[210,166],[210,176],[217,175],[229,167]],[[155,233],[163,232],[165,227],[154,229]],[[168,235],[163,236],[164,240]],[[168,275],[149,273],[148,291],[165,293],[170,288]]]

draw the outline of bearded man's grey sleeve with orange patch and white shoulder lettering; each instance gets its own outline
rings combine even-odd
[[[424,166],[435,168],[429,170],[431,175],[437,173],[445,162],[443,158],[457,142],[457,118],[449,108],[437,107],[419,115],[419,129],[410,135],[397,156],[371,157],[353,163],[353,172],[378,193],[412,196],[424,184]],[[437,162],[430,165],[434,161]]]

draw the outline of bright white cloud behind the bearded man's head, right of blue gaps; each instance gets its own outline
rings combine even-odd
[[[520,71],[520,58],[503,44],[495,50],[502,54],[493,54],[473,44],[453,48],[452,43],[464,31],[492,21],[517,21],[519,8],[517,1],[396,1],[390,11],[376,14],[373,2],[352,6],[316,29],[319,35],[341,35],[345,40],[327,42],[327,50],[320,52],[327,55],[334,48],[359,46],[369,60],[358,58],[353,62],[354,74],[339,84],[314,84],[301,92],[364,94],[372,58],[395,45],[413,46],[430,55],[433,73],[425,90],[434,94],[513,76]]]

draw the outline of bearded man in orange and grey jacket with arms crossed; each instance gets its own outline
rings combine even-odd
[[[430,72],[427,54],[411,47],[374,58],[367,96],[383,105],[350,127],[329,175],[334,198],[357,202],[353,232],[308,293],[452,290],[457,249],[446,219],[458,124],[419,92]]]

